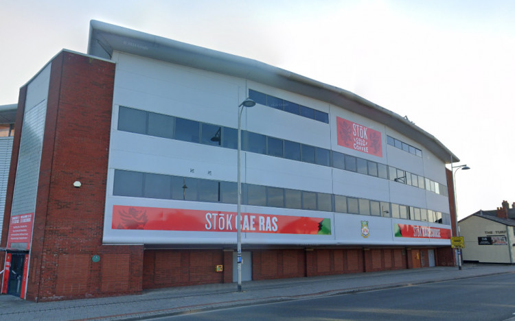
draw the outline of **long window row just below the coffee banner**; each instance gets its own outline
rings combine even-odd
[[[119,107],[118,130],[192,143],[238,148],[238,130],[155,112]],[[242,150],[354,171],[448,196],[446,186],[409,171],[321,147],[242,131]]]

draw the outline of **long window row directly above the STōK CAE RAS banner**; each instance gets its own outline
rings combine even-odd
[[[113,195],[236,204],[236,182],[115,170]],[[450,224],[446,213],[345,195],[242,184],[242,204]]]

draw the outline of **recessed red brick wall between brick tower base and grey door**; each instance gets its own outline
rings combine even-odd
[[[225,253],[231,254],[232,265],[232,252],[222,250],[145,250],[143,287],[156,289],[222,283],[227,273]],[[216,265],[222,264],[224,272],[216,272]]]

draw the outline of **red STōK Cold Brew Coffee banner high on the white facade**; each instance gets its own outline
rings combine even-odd
[[[336,117],[338,145],[382,157],[381,133],[358,123]]]

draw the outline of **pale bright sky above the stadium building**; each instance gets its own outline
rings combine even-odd
[[[459,219],[515,202],[515,1],[0,0],[0,105],[89,21],[252,58],[409,117],[470,170]]]

